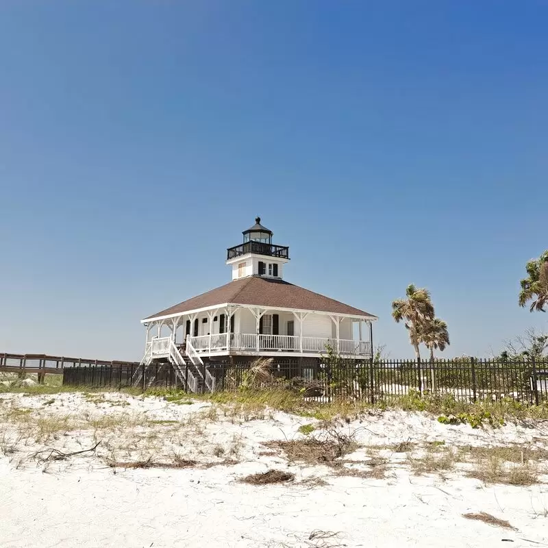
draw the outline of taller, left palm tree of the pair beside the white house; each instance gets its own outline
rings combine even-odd
[[[409,340],[415,349],[417,361],[421,359],[419,343],[427,325],[434,318],[434,305],[430,293],[425,288],[416,288],[410,284],[406,289],[406,299],[397,299],[392,303],[392,317],[397,323],[403,321],[409,332]]]

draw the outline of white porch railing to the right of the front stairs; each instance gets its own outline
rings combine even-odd
[[[190,337],[190,345],[199,353],[208,351],[221,351],[227,349],[227,334],[202,335]],[[371,344],[367,340],[348,340],[328,337],[303,337],[302,352],[317,353],[327,352],[327,347],[348,356],[371,356]],[[230,349],[241,351],[279,351],[301,352],[301,337],[292,335],[257,335],[255,333],[230,334]],[[188,353],[188,347],[187,347]]]

